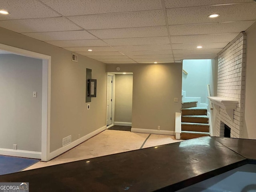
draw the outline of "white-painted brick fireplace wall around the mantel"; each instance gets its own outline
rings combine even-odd
[[[241,138],[243,129],[245,100],[246,34],[241,33],[230,46],[218,56],[217,96],[238,100],[234,110],[234,119],[220,108],[216,114],[214,127],[216,136],[224,136],[224,124],[231,128],[232,138]]]

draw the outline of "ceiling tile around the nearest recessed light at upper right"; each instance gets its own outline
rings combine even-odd
[[[256,20],[256,3],[167,9],[169,25]],[[208,15],[218,13],[218,18]],[[235,13],[235,14],[234,14]]]

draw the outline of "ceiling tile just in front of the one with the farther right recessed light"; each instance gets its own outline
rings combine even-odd
[[[230,42],[239,33],[229,34],[209,34],[209,35],[186,35],[186,36],[172,36],[172,43],[216,43],[216,42]]]

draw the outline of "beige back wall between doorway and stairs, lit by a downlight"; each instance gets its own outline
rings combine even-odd
[[[175,112],[181,108],[182,64],[109,64],[107,72],[116,72],[116,66],[120,72],[133,72],[132,128],[174,131]]]

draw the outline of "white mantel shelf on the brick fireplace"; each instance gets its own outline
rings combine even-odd
[[[228,116],[234,120],[234,110],[238,104],[238,100],[227,99],[223,97],[207,97],[213,103],[214,108],[220,113],[220,107],[226,110]]]

